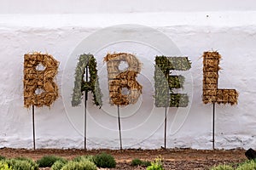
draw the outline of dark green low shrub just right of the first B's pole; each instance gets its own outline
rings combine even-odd
[[[51,167],[55,161],[67,162],[67,160],[60,156],[43,156],[37,161],[37,163],[39,167]]]

